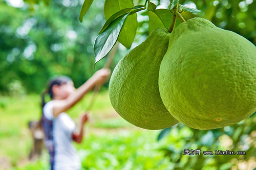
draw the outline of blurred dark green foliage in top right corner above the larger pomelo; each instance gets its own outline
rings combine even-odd
[[[180,1],[200,9],[198,14],[217,27],[236,32],[256,44],[256,2],[253,0]],[[185,12],[184,12],[185,13]],[[186,17],[186,15],[185,15]],[[191,16],[188,16],[191,17]]]

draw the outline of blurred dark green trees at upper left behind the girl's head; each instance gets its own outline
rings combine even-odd
[[[14,8],[0,1],[0,91],[19,81],[28,92],[41,92],[53,75],[68,75],[76,86],[94,69],[93,41],[102,25],[103,2],[78,21],[79,1],[26,1]],[[74,12],[75,11],[75,12]],[[91,13],[90,13],[91,12]]]

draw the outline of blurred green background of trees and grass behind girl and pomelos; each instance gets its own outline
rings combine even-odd
[[[151,1],[166,8],[168,0]],[[40,117],[40,93],[54,75],[70,76],[80,86],[103,67],[94,68],[93,43],[103,26],[104,1],[95,0],[83,22],[82,0],[0,0],[0,169],[47,169],[44,150],[38,161],[28,160],[32,137],[30,120]],[[200,16],[256,44],[256,2],[253,0],[181,0],[200,9],[183,12]],[[134,1],[135,5],[144,1]],[[147,11],[138,14],[132,48],[148,35]],[[111,69],[129,50],[119,45]],[[108,83],[97,97],[88,133],[76,145],[83,169],[253,169],[256,168],[256,116],[216,130],[195,130],[178,124],[160,131],[143,130],[125,122],[112,108]],[[69,111],[75,120],[86,109],[91,93]],[[183,155],[201,149],[201,155]],[[245,151],[246,155],[203,155],[202,151]]]

